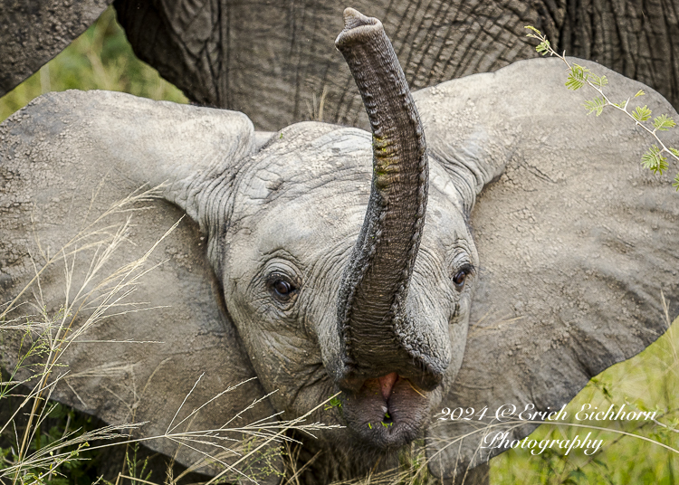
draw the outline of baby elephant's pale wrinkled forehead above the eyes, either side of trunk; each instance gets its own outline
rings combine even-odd
[[[430,176],[423,245],[441,252],[468,232],[445,171],[431,162]],[[240,177],[232,243],[241,240],[246,252],[260,254],[349,251],[363,223],[371,177],[368,132],[314,122],[285,128]]]

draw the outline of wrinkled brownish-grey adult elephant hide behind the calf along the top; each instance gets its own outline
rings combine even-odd
[[[106,3],[83,0],[81,17],[33,1],[11,22],[0,15],[0,95],[84,31]],[[56,2],[54,2],[56,4]],[[60,3],[61,4],[61,3]],[[12,0],[0,11],[13,12]],[[193,101],[243,111],[259,129],[311,119],[323,90],[323,120],[368,128],[347,66],[334,53],[341,12],[352,6],[382,20],[411,89],[496,71],[535,57],[524,25],[554,47],[599,62],[658,90],[679,106],[679,1],[356,0],[230,2],[117,0],[135,52]],[[30,10],[30,13],[29,13]],[[44,20],[39,12],[50,12]],[[89,19],[89,20],[87,20]],[[72,25],[77,25],[74,29]],[[23,35],[17,35],[17,30]],[[28,34],[30,32],[30,34]],[[47,42],[51,36],[61,43]],[[22,43],[15,41],[22,39]],[[18,65],[26,66],[17,69]]]

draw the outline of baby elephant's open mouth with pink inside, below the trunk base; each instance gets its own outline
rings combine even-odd
[[[355,393],[344,397],[349,429],[364,445],[396,450],[415,440],[428,415],[427,393],[409,379],[392,372],[368,379]]]

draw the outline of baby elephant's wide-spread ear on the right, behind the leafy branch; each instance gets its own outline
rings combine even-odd
[[[641,83],[570,62],[607,76],[607,96],[632,97],[630,111],[647,105],[677,119]],[[664,333],[663,298],[670,319],[679,312],[671,186],[679,167],[670,162],[655,176],[640,166],[653,139],[616,109],[586,116],[583,103],[596,93],[567,90],[567,73],[556,59],[517,62],[415,95],[432,158],[471,211],[480,261],[464,363],[443,405],[477,416],[487,409],[486,423],[497,424],[504,404],[559,410],[592,376]],[[646,95],[635,99],[638,90]],[[676,130],[660,136],[679,146]],[[435,476],[460,480],[467,465],[505,450],[488,448],[496,433],[510,431],[512,442],[536,427],[481,424],[438,421],[429,430]]]

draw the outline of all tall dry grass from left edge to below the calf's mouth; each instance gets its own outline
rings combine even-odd
[[[166,432],[157,436],[131,438],[130,433],[144,423],[120,423],[84,432],[69,429],[66,423],[61,437],[49,440],[42,436],[42,425],[48,416],[53,414],[56,406],[50,402],[53,390],[58,385],[68,385],[65,378],[69,376],[68,358],[72,343],[89,338],[88,331],[104,319],[154,309],[139,308],[139,304],[130,301],[129,297],[140,284],[143,284],[142,278],[162,264],[151,262],[150,256],[158,244],[175,230],[180,221],[162,234],[138,259],[114,271],[105,270],[107,263],[120,252],[122,243],[127,241],[128,229],[133,223],[135,214],[143,210],[154,210],[145,204],[156,199],[158,194],[159,188],[139,191],[112,204],[104,213],[92,216],[91,223],[83,224],[81,230],[53,254],[43,251],[46,244],[35,236],[39,256],[36,258],[37,261],[33,261],[34,276],[24,289],[18,292],[14,300],[5,302],[0,307],[2,309],[0,338],[4,340],[5,347],[12,347],[18,352],[18,355],[15,354],[17,357],[14,358],[14,365],[5,368],[6,378],[0,381],[0,404],[5,404],[10,396],[20,397],[19,403],[5,423],[0,423],[0,436],[3,437],[0,441],[2,456],[0,483],[12,485],[55,483],[56,479],[69,478],[69,471],[82,461],[82,454],[86,450],[92,452],[113,445],[127,447],[133,445],[136,451],[135,447],[139,443],[159,439],[177,443],[177,449],[187,447],[201,454],[201,459],[191,464],[186,471],[165,480],[168,483],[177,483],[191,471],[200,470],[206,464],[213,467],[217,465],[221,469],[207,483],[215,483],[225,478],[255,481],[256,477],[250,473],[254,470],[252,465],[255,461],[265,461],[266,464],[264,469],[260,467],[257,473],[277,472],[277,469],[274,470],[274,461],[280,458],[280,447],[283,443],[296,442],[289,436],[291,430],[313,436],[313,433],[321,429],[337,427],[308,423],[311,414],[335,396],[319,404],[309,413],[290,421],[282,421],[279,414],[273,414],[255,423],[235,425],[235,419],[240,414],[266,400],[268,395],[253,401],[219,428],[193,430],[186,426],[207,404],[227,393],[239,392],[238,387],[243,384],[241,383],[217,393],[212,399],[193,409],[186,417],[178,419],[177,416],[182,413],[186,404],[186,398],[193,392],[192,388],[172,417]],[[124,217],[122,223],[111,223],[113,216],[121,215]],[[85,219],[87,218],[86,216]],[[90,258],[87,271],[84,275],[76,275],[76,259],[82,258],[85,254]],[[51,314],[47,309],[54,308],[55,305],[53,301],[44,300],[41,281],[46,271],[60,267],[64,297],[58,305],[59,310]],[[75,284],[75,281],[78,283]],[[25,298],[28,296],[34,300],[33,305],[26,303]],[[24,309],[33,309],[36,312],[26,313]],[[20,316],[16,316],[17,310]],[[130,345],[154,343],[129,340],[124,342]],[[201,377],[197,376],[194,388]],[[158,419],[161,418],[166,421],[164,419],[166,416],[158,416]],[[18,424],[18,421],[22,423]],[[235,440],[234,433],[243,438]],[[41,438],[43,446],[40,445]],[[90,445],[92,442],[102,441],[105,443]],[[200,445],[209,445],[210,452],[200,449]],[[267,467],[271,470],[267,470]],[[128,458],[122,464],[117,482],[131,480],[132,483],[149,483],[148,476],[146,478],[134,476],[137,473],[144,473],[143,466],[140,470],[137,470],[138,468],[137,461]]]

